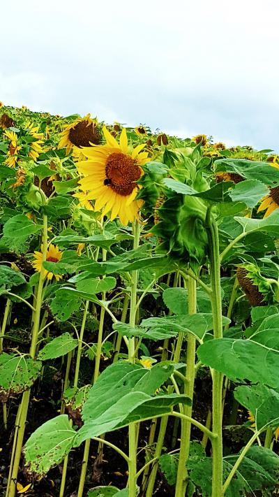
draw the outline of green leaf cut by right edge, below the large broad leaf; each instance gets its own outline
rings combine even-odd
[[[279,393],[262,384],[236,387],[234,397],[252,412],[257,430],[279,426]]]

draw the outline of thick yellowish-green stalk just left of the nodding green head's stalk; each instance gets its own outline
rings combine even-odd
[[[197,292],[196,282],[193,278],[188,278],[188,313],[197,312]],[[181,333],[182,335],[182,333]],[[194,382],[195,382],[195,355],[196,340],[195,336],[187,334],[187,355],[186,355],[186,379],[184,382],[184,393],[193,401]],[[183,414],[192,417],[192,405],[183,406]],[[176,497],[184,497],[188,483],[188,471],[186,464],[190,452],[191,423],[186,419],[181,419],[181,442],[179,452],[179,466],[176,477]]]

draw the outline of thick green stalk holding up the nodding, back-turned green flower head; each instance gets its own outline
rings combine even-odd
[[[206,227],[209,237],[209,259],[211,272],[211,308],[213,315],[213,336],[215,340],[223,337],[222,298],[220,285],[220,256],[218,228],[208,209]],[[222,433],[222,391],[223,374],[213,369],[212,373],[212,430],[216,438],[212,443],[212,497],[223,496],[223,433]]]

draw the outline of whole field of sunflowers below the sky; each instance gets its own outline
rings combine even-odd
[[[279,492],[279,157],[0,103],[5,497]]]

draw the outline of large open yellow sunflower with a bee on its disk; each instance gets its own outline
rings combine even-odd
[[[82,192],[88,192],[88,199],[95,199],[95,210],[103,210],[103,215],[110,213],[110,219],[116,216],[122,224],[133,222],[142,206],[136,201],[137,180],[143,174],[142,166],[149,161],[148,152],[141,152],[144,144],[130,148],[126,129],[121,131],[119,143],[103,127],[106,144],[85,147],[82,153],[88,158],[77,163],[77,170],[84,178],[80,180]]]

